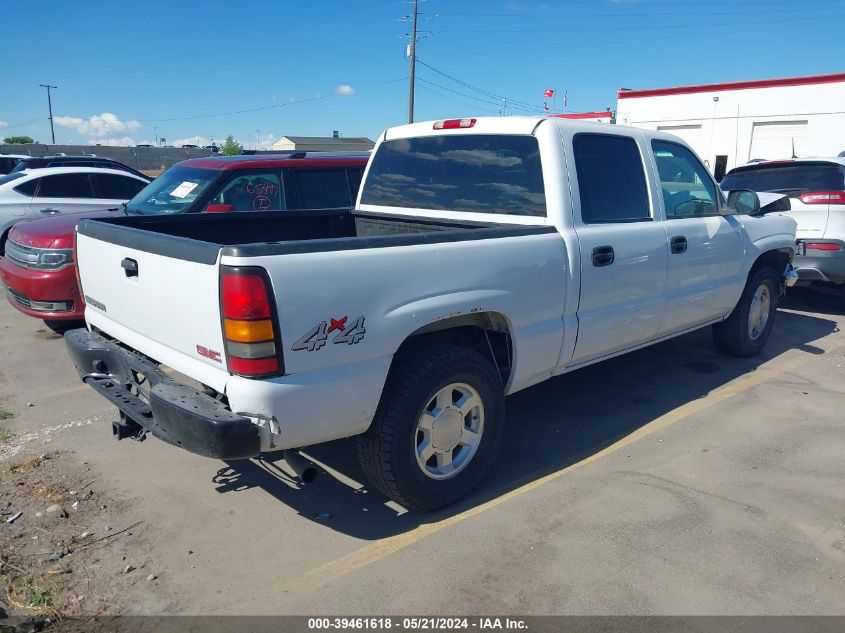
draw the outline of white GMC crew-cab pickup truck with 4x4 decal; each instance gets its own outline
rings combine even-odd
[[[491,468],[508,394],[705,326],[758,353],[794,276],[784,200],[725,200],[660,132],[416,123],[348,211],[83,220],[66,341],[118,438],[301,473],[291,449],[357,435],[372,483],[430,510]]]

